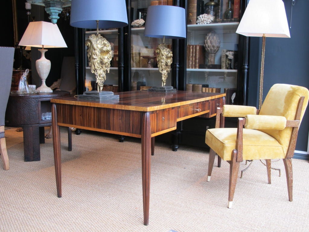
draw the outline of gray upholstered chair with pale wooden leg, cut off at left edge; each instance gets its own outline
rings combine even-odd
[[[4,135],[4,117],[11,90],[14,51],[14,48],[0,47],[0,156],[4,170],[10,169]]]

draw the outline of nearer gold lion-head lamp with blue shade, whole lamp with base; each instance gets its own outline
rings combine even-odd
[[[102,91],[106,73],[109,73],[112,50],[110,43],[99,34],[99,28],[119,28],[128,25],[125,0],[73,0],[70,25],[77,28],[97,29],[87,41],[88,65],[95,74],[97,91],[87,91],[78,99],[104,101],[119,99],[111,91]]]

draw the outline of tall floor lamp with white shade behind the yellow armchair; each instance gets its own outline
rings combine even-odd
[[[286,11],[282,0],[250,0],[236,33],[262,37],[259,109],[262,105],[266,37],[290,38]]]

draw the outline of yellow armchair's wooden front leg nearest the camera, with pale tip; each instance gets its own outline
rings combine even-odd
[[[237,176],[239,171],[239,162],[236,161],[237,158],[237,150],[234,149],[232,151],[232,157],[230,161],[230,181],[229,181],[229,201],[227,204],[228,208],[232,208],[233,197],[235,192],[235,187],[237,183]]]

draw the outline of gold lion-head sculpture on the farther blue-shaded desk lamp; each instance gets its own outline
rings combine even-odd
[[[162,86],[165,86],[167,73],[170,72],[171,63],[173,62],[173,54],[164,43],[159,44],[155,52],[158,54],[159,72],[162,73]]]

